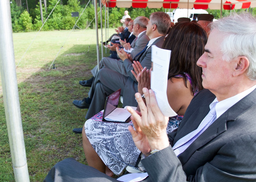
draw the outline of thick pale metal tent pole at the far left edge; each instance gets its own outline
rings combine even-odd
[[[0,72],[15,181],[29,181],[14,58],[10,1],[0,1]]]

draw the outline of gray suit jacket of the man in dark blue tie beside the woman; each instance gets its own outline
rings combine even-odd
[[[157,47],[162,48],[162,45],[164,43],[164,38],[165,36],[159,37],[157,40],[153,42],[152,45],[156,45]],[[139,60],[143,68],[144,67],[147,67],[148,69],[151,68],[151,46],[142,54]],[[131,70],[134,70],[132,67],[132,62],[130,59],[125,59],[123,64],[126,72],[129,75],[129,78],[126,81],[125,87],[124,87],[123,105],[136,107],[137,102],[134,99],[135,98],[134,95],[136,92],[138,92],[138,82],[136,81],[136,78],[133,76],[131,72]]]

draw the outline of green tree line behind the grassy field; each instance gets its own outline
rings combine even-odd
[[[71,30],[75,24],[75,18],[71,17],[71,12],[79,12],[81,15],[83,9],[89,0],[61,0],[55,7],[52,14],[50,12],[58,2],[58,0],[10,0],[11,18],[13,32],[29,32],[38,31],[42,24],[45,22],[42,30]],[[94,1],[88,4],[87,8],[83,12],[83,15],[79,19],[77,26],[81,29],[85,29],[94,18]],[[105,21],[105,7],[102,9],[102,21],[104,26]],[[98,5],[98,12],[100,7]],[[164,8],[109,8],[109,27],[121,26],[120,19],[124,15],[124,11],[128,10],[132,19],[137,16],[149,17],[152,12],[156,11],[173,11],[173,9]],[[256,14],[256,8],[239,9],[238,11],[249,11],[252,14]],[[215,18],[220,17],[220,10],[207,9],[208,13],[214,15]],[[230,14],[230,10],[223,10],[222,14]],[[77,17],[78,18],[78,17]],[[76,19],[77,19],[76,18]],[[98,27],[100,27],[100,18],[98,18]],[[89,28],[95,28],[95,21],[89,25]]]

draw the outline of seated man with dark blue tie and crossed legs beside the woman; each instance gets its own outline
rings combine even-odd
[[[135,20],[134,20],[135,21]],[[142,67],[151,67],[151,46],[156,45],[162,47],[165,34],[170,27],[170,18],[164,12],[154,12],[148,21],[146,35],[150,38],[147,46],[134,59],[139,60]],[[118,50],[118,48],[117,48]],[[83,100],[75,100],[73,104],[80,108],[88,108],[86,118],[89,119],[102,109],[104,109],[106,96],[121,88],[121,95],[124,96],[124,106],[137,106],[134,94],[137,90],[137,81],[131,70],[132,60],[122,49],[118,51],[120,55],[122,67],[114,70],[104,67],[94,77],[92,87],[89,91],[88,98]]]

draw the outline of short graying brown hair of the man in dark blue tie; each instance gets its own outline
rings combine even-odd
[[[150,15],[152,25],[156,25],[158,33],[166,35],[171,25],[171,19],[165,12],[154,12]]]

